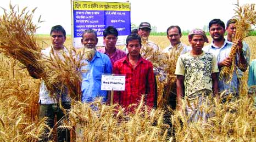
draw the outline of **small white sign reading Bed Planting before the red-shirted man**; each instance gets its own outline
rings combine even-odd
[[[124,75],[102,75],[101,89],[102,90],[125,90]]]

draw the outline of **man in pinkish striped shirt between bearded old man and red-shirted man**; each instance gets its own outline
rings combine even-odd
[[[98,49],[98,52],[107,54],[112,66],[114,66],[115,61],[126,56],[123,50],[115,47],[116,41],[118,40],[118,30],[113,26],[108,26],[103,31],[103,40],[105,42],[105,48]]]

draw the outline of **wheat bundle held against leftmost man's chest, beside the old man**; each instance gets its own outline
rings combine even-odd
[[[52,88],[54,84],[55,90],[63,91],[67,88],[71,99],[80,100],[82,81],[80,68],[85,65],[81,57],[85,52],[84,50],[77,52],[75,48],[66,50],[67,53],[62,52],[62,56],[52,52],[50,58],[42,59],[46,64],[46,86]]]

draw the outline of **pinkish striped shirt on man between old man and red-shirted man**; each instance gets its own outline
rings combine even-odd
[[[108,55],[106,53],[105,48],[98,49],[98,52]],[[117,48],[115,48],[115,53],[112,56],[108,55],[108,57],[110,58],[112,66],[114,66],[115,61],[117,61],[119,59],[122,59],[125,56],[126,56],[126,53],[123,50],[120,50],[120,49],[117,49]]]

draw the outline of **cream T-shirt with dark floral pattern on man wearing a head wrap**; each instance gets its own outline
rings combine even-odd
[[[212,73],[219,72],[216,58],[211,53],[191,55],[190,52],[179,56],[175,75],[184,76],[185,95],[189,100],[197,98],[199,91],[213,91]],[[199,95],[202,95],[201,93]]]

